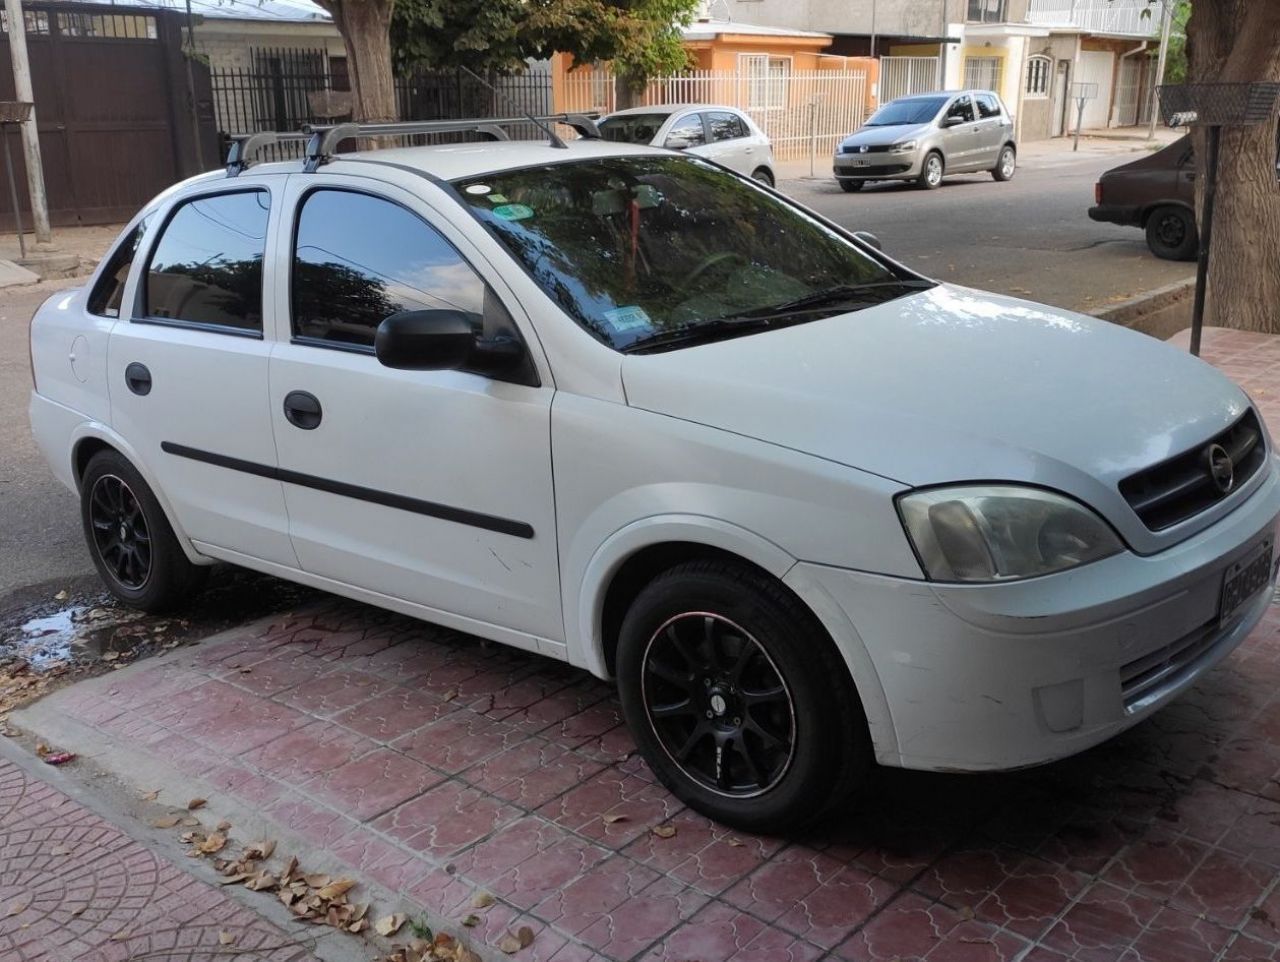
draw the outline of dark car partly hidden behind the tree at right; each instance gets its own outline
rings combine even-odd
[[[1196,232],[1196,157],[1192,138],[1106,171],[1093,188],[1089,216],[1147,232],[1156,257],[1190,261],[1199,248]]]

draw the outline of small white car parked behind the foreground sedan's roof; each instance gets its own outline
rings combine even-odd
[[[602,118],[599,128],[607,141],[687,151],[769,187],[778,179],[769,138],[737,107],[713,104],[631,107]]]

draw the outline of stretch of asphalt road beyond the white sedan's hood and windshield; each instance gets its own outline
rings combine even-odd
[[[829,178],[783,189],[876,234],[886,253],[927,276],[1092,311],[1196,272],[1153,257],[1137,228],[1089,220],[1098,174],[1135,156],[1036,157],[1007,183],[969,174],[937,191],[883,183],[844,193]]]

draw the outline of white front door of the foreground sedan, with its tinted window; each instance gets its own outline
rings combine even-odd
[[[372,348],[387,316],[448,308],[536,349],[498,271],[394,184],[298,175],[288,205],[270,409],[301,567],[513,643],[561,641],[549,379],[392,370]]]

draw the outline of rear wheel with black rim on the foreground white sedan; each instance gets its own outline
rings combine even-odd
[[[172,611],[209,573],[187,559],[151,487],[119,452],[99,452],[86,466],[81,523],[99,576],[129,608]]]

